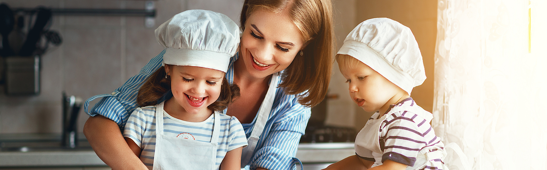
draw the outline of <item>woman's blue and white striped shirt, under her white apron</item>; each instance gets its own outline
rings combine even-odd
[[[85,112],[90,116],[100,114],[112,119],[118,123],[120,130],[123,130],[130,113],[138,107],[136,103],[138,88],[148,75],[160,68],[164,53],[165,51],[162,51],[150,60],[138,75],[131,77],[122,87],[114,90],[114,95],[96,95],[88,99],[84,105]],[[226,72],[229,82],[234,80],[233,63],[237,58],[237,54],[232,57],[228,72]],[[89,101],[97,98],[102,99],[91,110],[88,110]],[[226,113],[226,110],[223,113]],[[285,95],[283,89],[278,88],[270,118],[266,122],[264,132],[260,136],[247,169],[257,167],[270,170],[296,169],[294,164],[294,162],[298,162],[298,159],[294,158],[296,148],[298,148],[300,137],[304,135],[310,113],[310,108],[298,104],[295,95]],[[254,123],[255,120],[249,124],[242,124],[246,137],[251,135]]]

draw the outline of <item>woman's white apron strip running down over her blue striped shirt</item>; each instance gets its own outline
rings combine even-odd
[[[268,87],[264,101],[262,101],[262,104],[258,110],[257,120],[254,123],[253,131],[251,132],[251,136],[247,139],[248,145],[243,148],[241,153],[241,168],[245,168],[249,161],[251,161],[254,149],[257,148],[257,142],[260,139],[260,135],[262,135],[264,126],[266,126],[266,122],[270,117],[270,112],[272,110],[272,106],[274,105],[277,81],[279,81],[279,72],[272,75],[270,86]]]

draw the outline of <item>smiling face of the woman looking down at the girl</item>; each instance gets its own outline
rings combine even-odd
[[[286,69],[303,45],[302,35],[287,12],[258,9],[247,17],[240,59],[249,74],[263,78]]]

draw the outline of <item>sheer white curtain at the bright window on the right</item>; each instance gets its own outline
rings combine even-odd
[[[546,11],[539,0],[439,0],[432,125],[472,169],[547,167]]]

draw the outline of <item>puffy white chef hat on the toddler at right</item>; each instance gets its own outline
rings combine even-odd
[[[352,56],[409,93],[426,80],[422,54],[410,28],[388,18],[363,21],[338,54]]]

